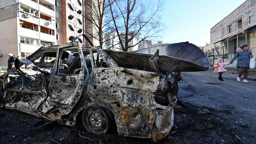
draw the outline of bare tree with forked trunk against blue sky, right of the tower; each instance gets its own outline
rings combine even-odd
[[[158,0],[156,3],[144,0],[139,2],[137,0],[116,0],[114,2],[108,0],[108,4],[123,51],[128,51],[144,39],[158,37],[158,34],[163,31],[159,15],[163,0]],[[142,37],[142,39],[129,45],[134,37]]]

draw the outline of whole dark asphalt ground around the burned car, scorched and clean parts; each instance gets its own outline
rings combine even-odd
[[[176,128],[158,143],[255,143],[256,81],[238,82],[236,74],[229,73],[224,73],[224,81],[219,81],[213,71],[183,72],[182,78],[178,94],[187,109],[175,111]],[[74,127],[52,124],[35,129],[31,124],[35,119],[26,113],[0,108],[0,143],[53,144],[52,140],[56,140],[63,144],[153,144],[149,139],[121,138],[115,134],[90,135],[79,122]],[[87,138],[79,137],[79,131]]]

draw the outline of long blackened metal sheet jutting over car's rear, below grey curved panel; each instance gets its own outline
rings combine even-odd
[[[138,54],[135,52],[114,52],[111,50],[104,50],[116,63],[117,65],[125,68],[137,68],[139,70],[146,70],[154,72],[148,59],[152,57],[149,54]],[[160,55],[157,61],[157,65],[160,72],[197,72],[208,70],[209,67],[202,67],[191,63],[189,61],[184,61],[175,57]]]

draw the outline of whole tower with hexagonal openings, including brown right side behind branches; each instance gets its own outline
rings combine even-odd
[[[88,6],[88,3],[86,6],[84,2],[83,0],[55,0],[56,40],[58,45],[71,42],[74,37],[81,34],[89,37],[89,35],[96,33],[92,23],[85,18],[92,15],[92,7]],[[91,38],[90,41],[96,46],[99,45],[99,41],[96,39]],[[78,42],[83,46],[89,46],[83,37],[79,37]]]

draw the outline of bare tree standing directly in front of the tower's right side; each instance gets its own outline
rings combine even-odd
[[[83,2],[84,12],[80,14],[84,19],[83,32],[92,42],[98,41],[98,46],[104,48],[106,41],[109,40],[107,39],[108,34],[115,30],[111,23],[109,2],[108,0],[84,0]],[[113,2],[115,0],[111,0],[110,4]],[[61,0],[61,3],[68,6],[65,0]],[[72,4],[72,2],[70,3]],[[78,12],[74,4],[72,6],[74,11]]]

